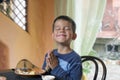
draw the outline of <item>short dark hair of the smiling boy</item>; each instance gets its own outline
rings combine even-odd
[[[70,22],[70,23],[72,24],[72,31],[73,31],[73,33],[75,33],[75,31],[76,31],[76,24],[75,24],[75,22],[74,22],[70,17],[65,16],[65,15],[58,16],[58,17],[54,20],[54,22],[53,22],[53,28],[52,28],[52,31],[53,31],[53,32],[54,32],[55,22],[56,22],[57,20],[60,20],[60,19],[66,20],[66,21]]]

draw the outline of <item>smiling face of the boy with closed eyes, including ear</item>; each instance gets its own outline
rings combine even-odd
[[[57,43],[70,44],[71,40],[76,38],[76,34],[73,33],[70,22],[59,19],[54,24],[52,37]]]

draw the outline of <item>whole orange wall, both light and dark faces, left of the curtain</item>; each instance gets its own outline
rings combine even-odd
[[[28,0],[28,32],[0,13],[0,41],[7,46],[7,68],[15,68],[25,58],[41,66],[47,50],[53,48],[51,26],[54,0]],[[2,52],[0,54],[3,54]]]

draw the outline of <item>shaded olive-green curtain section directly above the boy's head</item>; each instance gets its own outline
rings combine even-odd
[[[74,0],[55,0],[55,15],[74,17]]]

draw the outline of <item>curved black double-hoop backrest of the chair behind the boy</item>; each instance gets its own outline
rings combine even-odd
[[[97,80],[97,77],[98,77],[98,73],[99,73],[99,67],[100,67],[100,63],[102,65],[102,68],[103,68],[103,73],[102,73],[102,78],[101,80],[105,80],[106,79],[106,75],[107,75],[107,68],[106,68],[106,65],[105,63],[98,57],[95,57],[95,56],[81,56],[81,60],[82,60],[82,63],[83,62],[86,62],[86,61],[92,61],[94,64],[95,64],[95,73],[94,73],[94,76],[93,76],[93,80]]]

